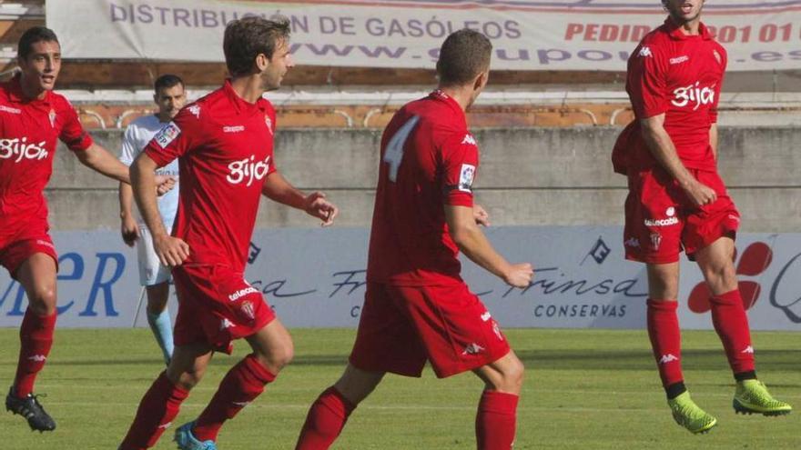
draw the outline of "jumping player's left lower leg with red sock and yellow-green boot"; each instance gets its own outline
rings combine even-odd
[[[717,424],[714,416],[695,405],[684,387],[681,365],[681,331],[679,330],[678,290],[679,263],[649,264],[648,272],[648,336],[662,378],[667,404],[678,425],[691,433],[705,433]]]

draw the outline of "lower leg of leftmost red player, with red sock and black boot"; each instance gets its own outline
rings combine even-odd
[[[17,270],[28,307],[20,327],[19,361],[14,385],[5,397],[5,409],[27,419],[31,429],[52,431],[56,422],[33,394],[36,375],[45,366],[56,329],[56,262],[43,253],[31,255]]]

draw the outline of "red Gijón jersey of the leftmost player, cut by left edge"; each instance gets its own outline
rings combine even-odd
[[[45,186],[53,174],[56,139],[72,151],[92,137],[63,95],[25,99],[20,75],[0,84],[0,235],[13,237],[32,220],[47,220]]]

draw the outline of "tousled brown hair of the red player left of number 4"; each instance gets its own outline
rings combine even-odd
[[[226,55],[228,73],[247,75],[253,69],[256,56],[272,58],[281,41],[289,39],[289,19],[267,20],[248,15],[226,26],[222,50]]]

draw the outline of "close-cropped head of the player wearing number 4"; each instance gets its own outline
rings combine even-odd
[[[440,85],[464,85],[487,70],[492,57],[492,43],[487,36],[463,28],[451,33],[442,43],[437,75]]]

